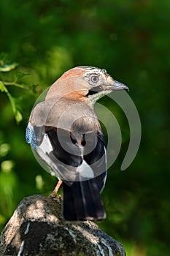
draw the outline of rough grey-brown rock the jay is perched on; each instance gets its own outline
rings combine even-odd
[[[93,222],[66,222],[61,197],[33,195],[23,198],[4,227],[0,255],[125,256],[125,250]]]

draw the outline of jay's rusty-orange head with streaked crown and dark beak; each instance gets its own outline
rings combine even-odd
[[[46,99],[58,94],[58,96],[88,101],[93,105],[100,97],[123,89],[128,87],[114,80],[107,74],[106,69],[80,66],[63,73],[51,86]]]

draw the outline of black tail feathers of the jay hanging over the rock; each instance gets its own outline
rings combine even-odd
[[[106,217],[95,178],[75,181],[72,186],[63,182],[63,217],[72,221]]]

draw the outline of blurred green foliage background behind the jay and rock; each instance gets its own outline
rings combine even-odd
[[[23,197],[55,187],[25,141],[36,98],[67,69],[89,65],[128,85],[142,122],[138,154],[122,172],[128,121],[100,99],[117,117],[123,142],[99,225],[128,256],[169,255],[169,13],[169,0],[0,1],[1,229]]]

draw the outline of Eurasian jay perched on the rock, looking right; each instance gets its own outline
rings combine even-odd
[[[107,178],[107,155],[93,105],[122,89],[128,87],[105,69],[75,67],[50,86],[45,100],[31,112],[26,141],[45,170],[59,178],[59,185],[63,182],[66,220],[106,217],[100,193]]]

